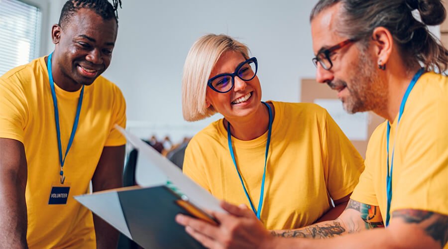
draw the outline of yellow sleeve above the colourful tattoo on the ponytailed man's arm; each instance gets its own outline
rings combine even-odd
[[[369,151],[371,150],[368,148],[369,146],[373,146],[371,144],[371,141],[367,145],[367,153],[365,155],[364,161],[365,169],[359,176],[358,185],[356,185],[355,189],[353,190],[350,199],[367,205],[379,206],[378,198],[375,194],[374,181],[372,178],[372,167],[377,167],[378,165],[370,165],[371,155],[369,154]]]

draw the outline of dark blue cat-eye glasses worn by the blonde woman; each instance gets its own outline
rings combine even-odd
[[[233,88],[235,76],[243,81],[249,81],[257,75],[258,63],[252,57],[241,63],[232,74],[219,74],[207,82],[207,85],[218,93],[226,93]]]

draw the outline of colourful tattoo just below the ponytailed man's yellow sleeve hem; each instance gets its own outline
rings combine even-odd
[[[379,217],[380,213],[377,206],[367,205],[350,199],[345,209],[354,209],[360,212],[366,229],[384,227],[383,220]]]

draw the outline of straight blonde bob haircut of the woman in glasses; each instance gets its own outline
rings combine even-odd
[[[188,52],[182,75],[182,114],[186,121],[198,121],[216,113],[207,108],[207,82],[215,64],[226,51],[240,52],[249,59],[246,45],[224,34],[207,34],[199,38]]]

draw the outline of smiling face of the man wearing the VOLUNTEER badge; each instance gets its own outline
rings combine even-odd
[[[53,77],[61,88],[71,91],[90,85],[110,65],[117,25],[93,10],[79,9],[70,20],[54,25]]]

